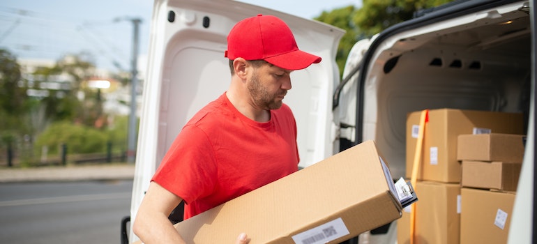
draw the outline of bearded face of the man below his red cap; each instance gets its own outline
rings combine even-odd
[[[252,99],[252,105],[259,109],[279,109],[282,100],[291,89],[292,70],[284,70],[270,63],[254,68],[254,72],[248,79],[248,91]]]

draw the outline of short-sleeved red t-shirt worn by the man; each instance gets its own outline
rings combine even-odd
[[[287,105],[259,123],[224,93],[183,127],[152,181],[185,201],[187,219],[292,174],[298,160],[296,122]]]

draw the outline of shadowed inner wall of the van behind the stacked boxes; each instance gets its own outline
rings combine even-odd
[[[529,42],[526,55],[467,47],[425,44],[402,52],[388,73],[381,70],[378,62],[373,68],[377,70],[371,73],[382,74],[372,79],[377,87],[378,106],[375,141],[390,162],[395,178],[404,177],[405,173],[405,125],[409,112],[455,108],[527,114],[531,79]],[[390,54],[389,50],[385,53],[377,61]]]

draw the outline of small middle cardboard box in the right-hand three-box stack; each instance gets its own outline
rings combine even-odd
[[[461,185],[469,188],[516,191],[522,163],[462,161]]]

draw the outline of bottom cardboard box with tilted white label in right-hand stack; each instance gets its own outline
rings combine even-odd
[[[460,243],[507,243],[515,203],[513,192],[462,188]]]

